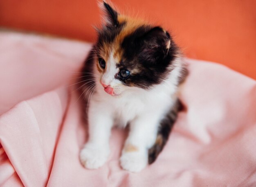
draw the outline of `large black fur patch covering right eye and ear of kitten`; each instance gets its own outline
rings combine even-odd
[[[168,41],[171,46],[167,49]],[[124,55],[118,67],[120,69],[136,69],[137,73],[131,73],[129,78],[117,78],[126,85],[148,89],[152,85],[161,83],[170,69],[175,56],[177,46],[170,34],[160,27],[144,25],[138,27],[132,34],[126,36],[121,44]]]

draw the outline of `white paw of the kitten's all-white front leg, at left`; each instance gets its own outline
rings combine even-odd
[[[88,169],[97,169],[106,163],[110,150],[106,147],[85,145],[80,152],[80,161]]]

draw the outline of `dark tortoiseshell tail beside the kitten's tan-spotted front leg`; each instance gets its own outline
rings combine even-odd
[[[157,132],[157,139],[155,140],[155,144],[150,149],[148,149],[148,164],[152,164],[153,162],[155,162],[157,156],[164,148],[164,145],[166,144],[171,129],[173,127],[173,124],[177,119],[178,111],[180,111],[181,109],[182,104],[180,100],[177,99],[171,111],[161,121]]]

